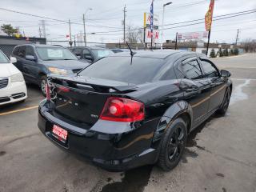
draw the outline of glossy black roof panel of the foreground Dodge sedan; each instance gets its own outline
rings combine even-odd
[[[196,54],[192,51],[184,51],[184,50],[135,50],[136,54],[134,57],[141,57],[141,58],[160,58],[165,59],[171,55],[175,56],[186,56],[189,54]],[[130,52],[120,52],[114,55],[110,55],[108,57],[130,57]]]

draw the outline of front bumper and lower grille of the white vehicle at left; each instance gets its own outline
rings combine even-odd
[[[10,82],[0,90],[0,106],[8,103],[19,102],[27,98],[25,82]]]

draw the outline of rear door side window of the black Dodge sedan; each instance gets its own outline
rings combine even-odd
[[[202,70],[197,60],[182,62],[182,64],[180,65],[180,70],[182,70],[182,72],[186,74],[186,78],[202,78]]]

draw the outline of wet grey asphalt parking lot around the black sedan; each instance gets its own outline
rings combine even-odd
[[[216,58],[234,82],[230,108],[189,136],[172,171],[143,166],[110,173],[59,150],[39,132],[37,86],[0,108],[0,191],[256,191],[256,54]]]

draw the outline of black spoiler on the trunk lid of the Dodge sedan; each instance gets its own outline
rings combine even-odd
[[[61,77],[55,77],[55,76],[51,76],[49,75],[47,77],[48,81],[51,82],[51,80],[54,80],[54,79],[59,79],[59,80],[62,80],[62,81],[66,81],[66,82],[72,82],[76,85],[85,85],[85,86],[91,86],[94,88],[94,86],[98,86],[98,87],[102,87],[102,88],[108,88],[108,89],[112,89],[112,90],[115,90],[115,91],[118,91],[118,92],[123,92],[123,91],[126,91],[126,90],[137,90],[138,89],[138,86],[136,85],[127,85],[127,86],[108,86],[108,85],[102,85],[102,84],[96,84],[96,83],[90,83],[90,82],[80,82],[80,81],[74,81],[74,80],[71,80],[70,78],[66,78],[64,76],[61,76]],[[56,83],[58,84],[58,83]],[[60,85],[58,84],[59,86],[65,86],[65,85]],[[76,88],[75,88],[76,89]],[[110,91],[111,93],[111,91]]]

